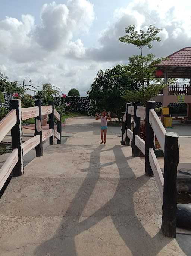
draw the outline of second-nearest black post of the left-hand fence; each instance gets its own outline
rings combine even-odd
[[[38,156],[43,156],[42,112],[41,112],[42,101],[35,100],[35,106],[38,107],[38,110],[39,110],[38,117],[35,117],[35,132],[34,132],[34,135],[40,136],[40,142],[35,147],[36,156],[38,157]]]

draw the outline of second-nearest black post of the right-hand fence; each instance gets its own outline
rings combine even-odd
[[[145,120],[145,175],[153,176],[153,171],[149,162],[149,148],[153,148],[155,150],[154,144],[154,131],[149,123],[149,112],[150,109],[155,110],[156,102],[155,101],[147,101],[146,102],[146,120]]]

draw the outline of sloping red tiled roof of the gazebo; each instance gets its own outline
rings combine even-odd
[[[185,47],[169,55],[166,60],[162,60],[156,67],[191,67],[191,47]]]

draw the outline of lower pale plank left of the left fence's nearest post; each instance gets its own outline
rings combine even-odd
[[[15,167],[18,162],[18,149],[13,149],[12,153],[7,157],[7,160],[4,162],[3,166],[0,169],[0,190],[2,189],[4,183],[9,177],[12,169]]]

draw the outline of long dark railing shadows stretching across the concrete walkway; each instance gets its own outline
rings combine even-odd
[[[76,193],[75,198],[73,198],[69,205],[66,215],[63,216],[63,220],[60,223],[56,234],[53,238],[38,246],[35,250],[35,255],[77,256],[75,237],[90,229],[107,216],[110,216],[120,237],[134,256],[155,256],[171,241],[170,238],[164,238],[161,232],[158,232],[154,237],[151,237],[135,213],[133,200],[134,193],[147,183],[149,178],[145,175],[139,178],[135,177],[134,172],[128,165],[128,159],[122,152],[122,146],[115,145],[109,150],[103,150],[103,148],[104,146],[100,145],[91,152],[90,167],[82,170],[88,171],[87,176]],[[100,164],[100,152],[110,150],[113,150],[115,155],[115,163],[118,167],[120,176],[115,194],[112,199],[95,211],[95,213],[86,219],[82,219],[80,222],[82,212],[100,178],[101,167],[109,165],[109,163],[103,165]],[[98,161],[96,167],[94,166],[95,157]],[[131,159],[131,157],[129,157],[129,159]],[[130,178],[124,177],[124,162],[126,163],[126,171]],[[112,165],[113,163],[114,162],[111,162],[110,164]],[[93,178],[92,173],[94,174]],[[113,179],[116,180],[116,178]],[[112,178],[110,178],[110,180],[112,180]],[[92,202],[92,204],[93,203],[94,202]],[[96,252],[94,255],[96,255]]]

